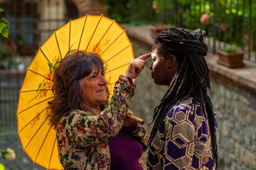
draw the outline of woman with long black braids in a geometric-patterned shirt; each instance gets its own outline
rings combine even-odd
[[[171,28],[154,40],[149,67],[168,89],[154,109],[148,170],[216,170],[218,127],[200,29]]]

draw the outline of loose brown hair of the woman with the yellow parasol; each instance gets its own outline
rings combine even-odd
[[[54,99],[48,102],[48,113],[51,125],[56,127],[58,121],[67,116],[72,109],[80,109],[82,103],[82,89],[80,79],[89,75],[95,65],[103,74],[106,71],[104,63],[96,53],[85,51],[70,51],[60,61],[53,73]],[[107,98],[109,91],[107,90]],[[107,102],[107,101],[106,101]],[[102,105],[105,105],[103,103]],[[100,106],[101,109],[103,106]]]

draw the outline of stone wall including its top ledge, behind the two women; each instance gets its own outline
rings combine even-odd
[[[123,26],[131,40],[135,57],[151,51],[152,41],[145,28]],[[213,108],[219,124],[219,170],[256,170],[256,65],[229,69],[217,65],[216,56],[207,56],[211,75]],[[135,95],[130,103],[134,114],[145,119],[153,116],[166,88],[155,85],[150,77],[149,61],[135,81]],[[241,75],[237,75],[241,74]]]

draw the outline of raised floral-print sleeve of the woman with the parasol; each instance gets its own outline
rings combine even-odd
[[[114,95],[100,116],[82,110],[72,110],[62,120],[61,126],[70,127],[70,142],[80,142],[81,146],[91,146],[116,136],[126,117],[128,102],[134,94],[134,85],[125,76],[120,76],[114,87]],[[61,128],[60,128],[61,130]],[[64,136],[66,136],[65,132]]]

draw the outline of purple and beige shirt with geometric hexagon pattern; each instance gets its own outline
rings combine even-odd
[[[148,170],[215,170],[205,115],[193,98],[172,107],[150,144]],[[218,143],[216,114],[214,121]]]

